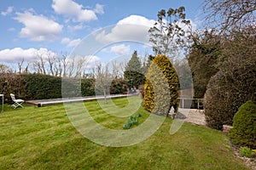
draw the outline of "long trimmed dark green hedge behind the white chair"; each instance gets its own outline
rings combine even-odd
[[[125,94],[127,82],[114,79],[111,94]],[[12,103],[9,94],[19,99],[57,99],[62,97],[79,97],[95,95],[94,78],[52,77],[42,74],[0,74],[0,94],[4,94],[4,102]]]

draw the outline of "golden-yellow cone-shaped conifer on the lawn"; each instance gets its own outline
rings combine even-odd
[[[178,78],[170,59],[156,56],[148,69],[144,84],[144,108],[160,115],[166,115],[173,106],[178,107]]]

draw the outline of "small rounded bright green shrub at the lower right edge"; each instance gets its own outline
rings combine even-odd
[[[236,112],[230,139],[233,144],[256,149],[256,105],[253,101],[247,101]]]

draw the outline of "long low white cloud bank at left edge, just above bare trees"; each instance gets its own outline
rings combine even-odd
[[[47,48],[7,48],[0,51],[0,60],[3,62],[18,63],[24,59],[29,62],[38,59],[38,54],[43,57],[47,57],[47,54],[55,55],[54,52],[49,51]]]

